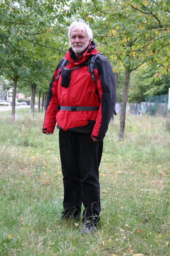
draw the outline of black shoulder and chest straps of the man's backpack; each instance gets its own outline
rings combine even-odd
[[[80,67],[83,67],[83,66],[85,66],[85,65],[88,64],[88,72],[91,74],[91,79],[94,80],[95,83],[96,83],[96,78],[95,78],[95,76],[94,76],[94,62],[95,62],[95,60],[96,60],[96,58],[97,58],[98,55],[102,55],[102,53],[97,53],[96,55],[90,55],[90,57],[88,58],[88,61],[87,61],[87,62],[85,62],[85,63],[82,64],[82,65],[79,65],[78,67],[72,68],[71,70],[69,70],[69,72],[71,72],[71,71],[73,71],[73,70],[76,70],[76,69],[78,69],[78,68],[80,68]],[[67,64],[68,64],[68,60],[62,59],[62,64],[61,64],[61,66],[60,66],[60,70],[59,70],[59,73],[58,73],[56,79],[59,78],[59,76],[60,76],[61,73],[62,73],[62,70],[65,68],[65,66],[66,66]]]

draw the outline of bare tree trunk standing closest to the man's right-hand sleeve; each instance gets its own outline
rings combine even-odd
[[[130,68],[125,70],[125,83],[123,88],[123,96],[121,103],[121,112],[120,112],[120,130],[119,130],[119,139],[123,139],[124,130],[125,130],[125,118],[126,118],[126,103],[127,103],[127,92],[129,87],[130,80]]]

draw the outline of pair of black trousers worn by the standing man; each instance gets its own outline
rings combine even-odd
[[[63,215],[79,216],[83,203],[83,221],[99,222],[102,149],[103,141],[94,142],[90,134],[59,130],[64,184]]]

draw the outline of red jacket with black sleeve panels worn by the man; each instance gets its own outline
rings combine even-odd
[[[91,54],[97,53],[93,41],[78,59],[70,48],[64,57],[69,61],[65,67],[77,67],[85,63]],[[56,79],[60,65],[61,60],[48,90],[43,133],[53,133],[57,122],[57,128],[64,131],[89,133],[91,138],[103,140],[116,102],[116,84],[111,64],[105,56],[98,55],[94,65],[96,83],[91,78],[87,64],[71,72],[69,87],[61,86],[61,75]],[[57,106],[99,106],[99,111],[65,111],[57,110]]]

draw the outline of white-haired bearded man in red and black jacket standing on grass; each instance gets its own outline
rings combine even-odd
[[[82,22],[71,23],[71,44],[51,80],[43,133],[53,134],[57,121],[64,200],[62,218],[79,220],[81,233],[93,233],[100,214],[99,164],[103,138],[114,112],[115,77],[111,64],[98,55],[92,31]]]

